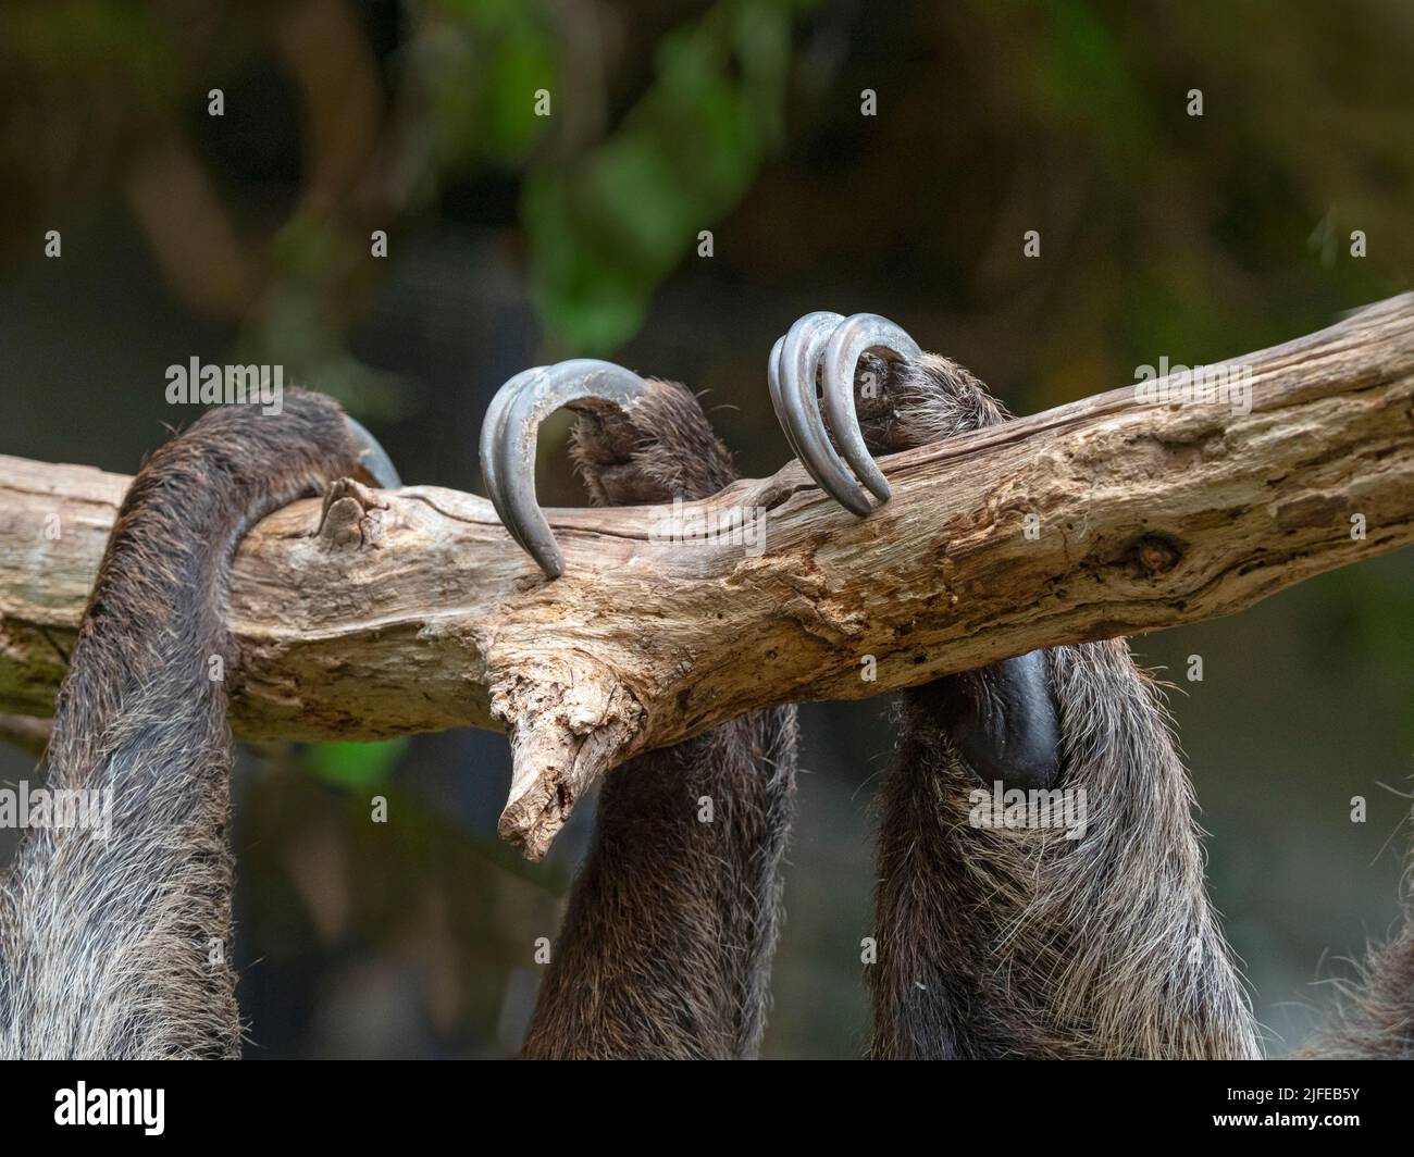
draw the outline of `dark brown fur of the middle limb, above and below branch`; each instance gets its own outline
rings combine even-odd
[[[580,419],[574,457],[595,504],[703,498],[735,477],[697,400],[650,385],[626,419],[612,407]],[[755,1057],[793,795],[792,707],[609,774],[525,1055]]]

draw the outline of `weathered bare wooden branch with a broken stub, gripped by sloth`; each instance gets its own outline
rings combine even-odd
[[[609,767],[742,711],[1230,614],[1414,542],[1414,296],[1226,368],[1249,413],[1126,388],[884,460],[865,519],[795,464],[682,508],[764,511],[764,553],[556,511],[554,581],[481,498],[341,484],[240,550],[233,726],[506,727],[501,829],[537,857]],[[127,481],[0,458],[0,711],[49,711]]]

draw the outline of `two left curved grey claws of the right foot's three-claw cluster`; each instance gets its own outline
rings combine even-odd
[[[772,348],[766,379],[776,419],[802,465],[826,494],[863,516],[870,512],[868,495],[844,468],[826,437],[816,399],[820,359],[830,334],[843,321],[843,315],[829,311],[806,314],[796,321]]]

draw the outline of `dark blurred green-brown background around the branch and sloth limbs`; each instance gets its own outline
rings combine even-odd
[[[1410,289],[1411,61],[1407,0],[4,0],[0,451],[132,472],[199,356],[280,364],[407,481],[479,492],[495,389],[597,355],[710,390],[761,477],[766,352],[810,310],[885,314],[1018,412],[1244,354]],[[577,505],[566,429],[540,494]],[[1277,1054],[1397,914],[1411,578],[1404,552],[1133,644],[1176,685]],[[803,713],[772,1057],[863,1051],[885,709]],[[516,1048],[592,809],[520,863],[508,778],[474,731],[243,752],[247,1057]]]

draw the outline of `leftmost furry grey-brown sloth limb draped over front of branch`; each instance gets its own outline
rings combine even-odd
[[[206,413],[119,511],[49,740],[48,786],[112,789],[110,837],[30,830],[0,881],[0,1057],[236,1057],[226,844],[230,559],[264,515],[358,465],[344,416]],[[372,481],[372,479],[369,479]]]

